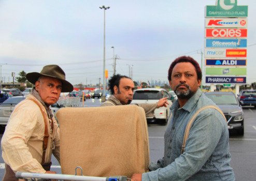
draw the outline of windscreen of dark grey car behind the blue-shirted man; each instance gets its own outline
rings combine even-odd
[[[232,94],[207,94],[206,96],[216,104],[238,104],[236,97]]]

